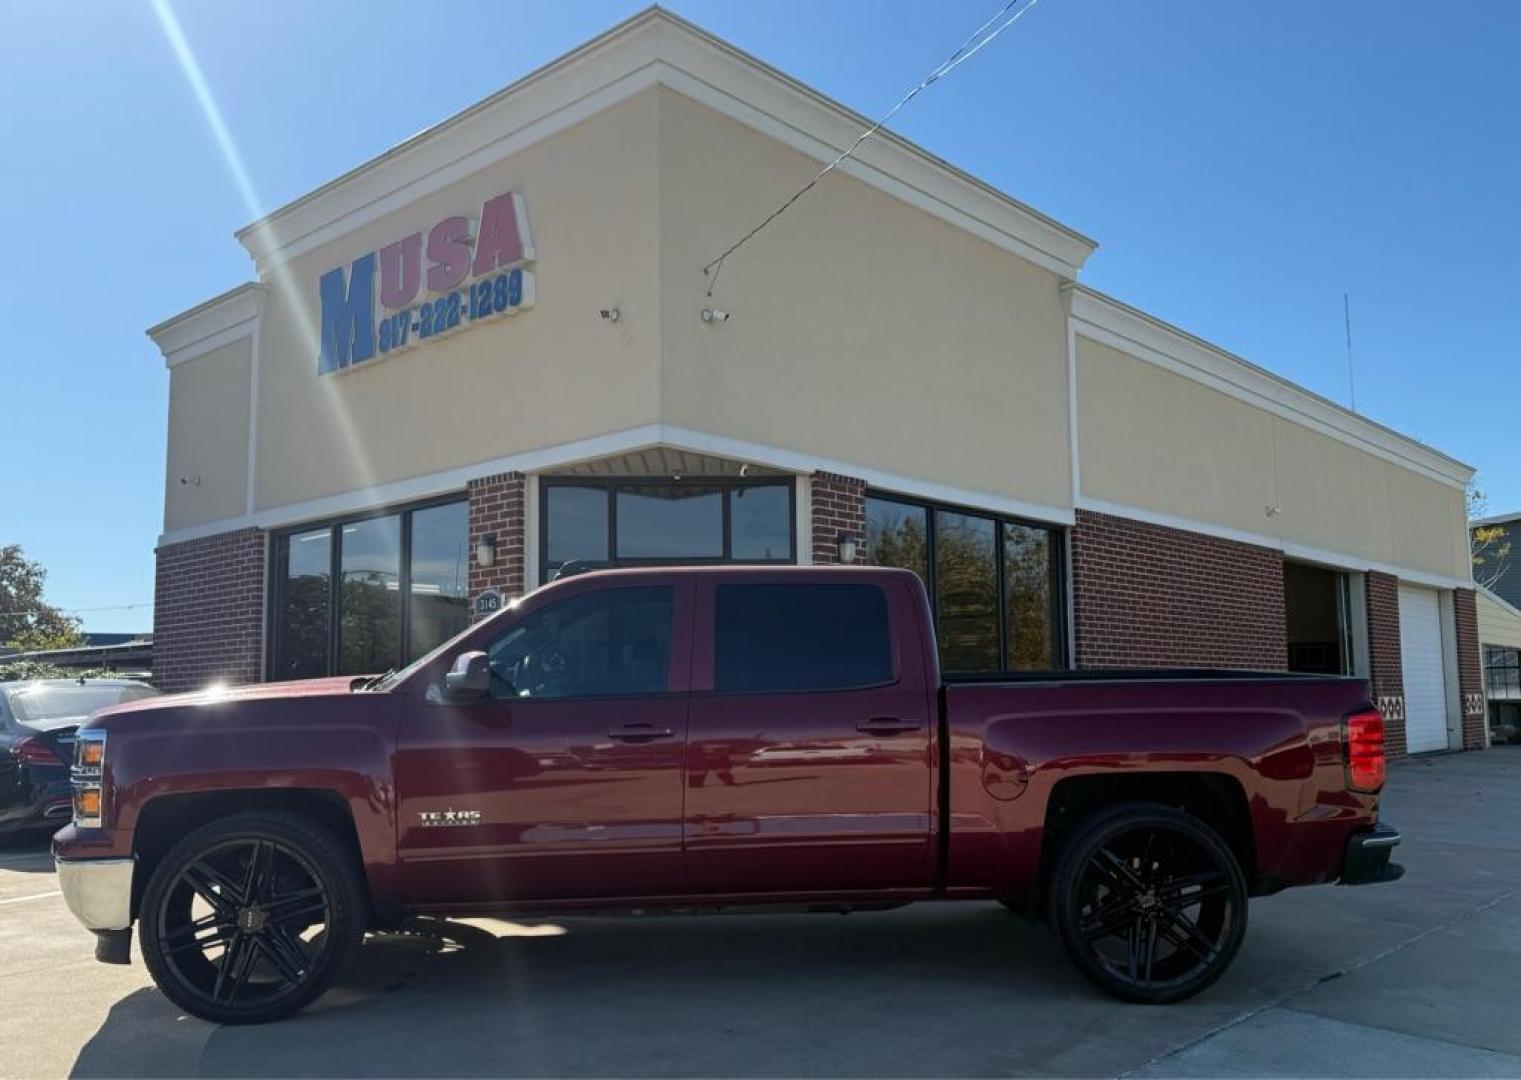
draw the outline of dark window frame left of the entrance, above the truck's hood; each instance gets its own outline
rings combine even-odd
[[[291,537],[301,535],[303,532],[316,532],[318,529],[327,529],[329,532],[329,566],[327,566],[327,672],[325,675],[316,675],[318,678],[336,677],[336,668],[339,663],[339,630],[342,627],[342,616],[339,611],[339,593],[342,590],[342,567],[344,567],[344,526],[354,525],[357,522],[368,522],[377,517],[391,517],[395,514],[400,517],[400,546],[399,558],[400,566],[397,567],[397,604],[400,607],[399,622],[397,622],[397,656],[392,668],[402,669],[411,663],[408,660],[408,646],[412,640],[412,514],[420,510],[432,510],[433,507],[447,507],[452,503],[465,505],[465,540],[468,543],[468,503],[470,496],[465,491],[455,491],[450,494],[433,496],[430,499],[421,499],[418,502],[406,502],[391,507],[376,507],[357,514],[344,514],[342,517],[329,517],[315,522],[303,522],[301,525],[289,525],[280,529],[272,529],[269,532],[271,557],[269,557],[269,581],[265,590],[265,663],[263,663],[263,678],[265,681],[292,681],[292,680],[275,680],[274,668],[280,662],[281,648],[281,627],[280,627],[280,602],[283,599],[283,590],[286,583],[286,573],[291,564]],[[473,557],[473,552],[470,552]],[[468,628],[468,577],[470,563],[465,564],[465,604],[467,604],[467,622]],[[444,640],[449,640],[447,637]],[[357,675],[356,675],[357,677]]]

